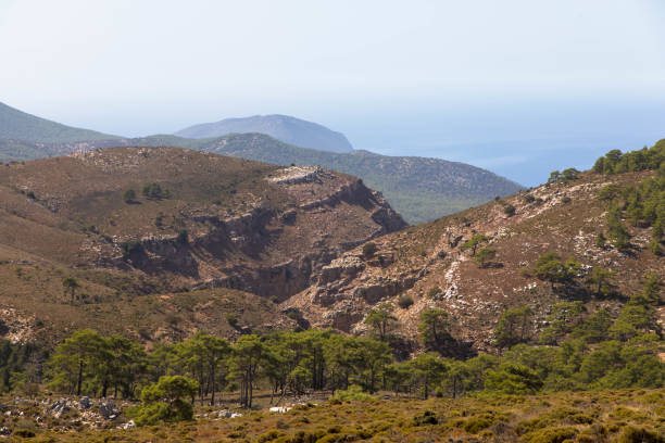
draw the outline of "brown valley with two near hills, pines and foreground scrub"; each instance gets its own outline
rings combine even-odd
[[[5,164],[0,379],[25,418],[0,433],[657,439],[664,143],[415,226],[319,166],[168,147]]]

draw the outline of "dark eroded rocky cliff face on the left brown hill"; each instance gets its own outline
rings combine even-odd
[[[150,149],[135,157],[74,154],[108,173],[140,169],[149,155]],[[285,202],[276,207],[255,200],[241,214],[188,207],[177,214],[179,233],[114,238],[112,251],[90,248],[99,251],[96,263],[170,274],[193,289],[231,288],[284,301],[344,251],[407,226],[362,180],[321,167],[276,169],[263,186],[285,194]]]

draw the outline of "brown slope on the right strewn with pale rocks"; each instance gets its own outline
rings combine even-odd
[[[649,152],[664,148],[661,141]],[[620,153],[614,153],[617,155]],[[494,352],[498,321],[510,308],[529,307],[534,336],[551,321],[552,306],[561,302],[578,301],[586,313],[607,308],[616,316],[629,296],[641,290],[645,275],[665,278],[662,248],[652,240],[656,236],[652,231],[662,229],[654,214],[661,214],[658,219],[665,217],[663,191],[644,185],[658,182],[652,181],[653,170],[638,168],[644,164],[627,154],[619,164],[623,169],[617,169],[622,174],[570,173],[569,179],[559,176],[529,191],[381,237],[372,242],[376,252],[368,255],[363,245],[346,253],[313,277],[315,284],[283,307],[300,309],[316,327],[365,333],[371,330],[368,314],[387,303],[396,317],[396,340],[410,343],[412,350],[422,346],[421,315],[428,308],[441,308],[451,316],[454,338],[441,351],[453,356]],[[602,163],[599,167],[602,170]],[[663,172],[658,174],[662,187]],[[652,194],[640,197],[650,200],[643,203],[643,212],[636,212],[630,205],[639,200],[630,192],[647,194],[644,189],[652,189]],[[615,205],[626,207],[620,216],[613,215]],[[617,228],[624,225],[626,235]],[[620,235],[624,244],[601,241],[601,233],[607,238]],[[467,243],[475,236],[478,255]],[[548,253],[560,258],[550,257],[547,266],[569,273],[568,280],[552,276],[549,280],[547,270],[535,270]],[[565,263],[570,260],[574,265],[568,269]],[[597,276],[593,269],[610,273],[602,283],[597,281],[603,284],[602,295],[591,282]],[[665,325],[662,305],[657,316]]]

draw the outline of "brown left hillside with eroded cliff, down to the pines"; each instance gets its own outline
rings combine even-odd
[[[152,328],[149,337],[174,309],[159,307],[172,303],[158,293],[195,290],[191,296],[212,309],[212,299],[234,292],[199,290],[228,288],[254,294],[242,295],[255,301],[248,308],[261,300],[269,305],[304,289],[311,273],[343,251],[406,226],[357,178],[178,148],[102,149],[5,165],[0,202],[0,273],[10,281],[0,294],[10,309],[1,319],[84,327],[98,318],[112,328],[114,311],[128,308],[123,327]],[[67,275],[79,279],[83,306],[61,306],[68,302],[61,284]],[[118,309],[128,300],[134,307]],[[139,314],[145,303],[159,314]],[[91,311],[75,315],[79,309]],[[256,309],[263,314],[251,325],[279,324],[279,314],[266,316],[271,307]],[[178,314],[184,328],[200,318],[196,307],[189,312],[193,317]],[[213,329],[225,322],[223,313],[210,311]]]

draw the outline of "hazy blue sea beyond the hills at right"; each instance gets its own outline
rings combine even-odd
[[[356,149],[468,163],[531,187],[550,172],[588,169],[610,150],[630,151],[665,137],[665,104],[655,100],[478,102],[466,109],[384,111],[346,121]]]

